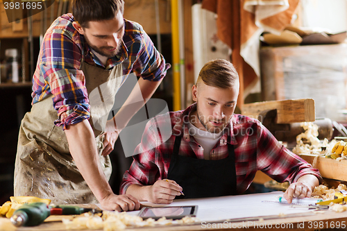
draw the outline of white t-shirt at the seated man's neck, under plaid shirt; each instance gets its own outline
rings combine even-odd
[[[189,135],[192,135],[196,142],[203,147],[203,157],[205,160],[210,160],[210,153],[214,145],[219,142],[222,132],[212,133],[196,128],[192,123],[188,123]]]

